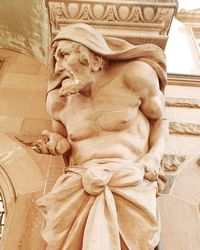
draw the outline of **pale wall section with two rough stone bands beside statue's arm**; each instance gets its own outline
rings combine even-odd
[[[184,159],[198,154],[200,147],[200,79],[177,78],[169,76],[165,90],[170,130],[165,153],[182,157],[180,165]]]

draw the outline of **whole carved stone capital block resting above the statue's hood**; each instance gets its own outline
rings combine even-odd
[[[164,48],[176,0],[47,0],[52,36],[70,23],[93,25],[105,36],[133,44],[155,43]]]

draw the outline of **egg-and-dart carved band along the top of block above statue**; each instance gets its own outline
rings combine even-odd
[[[48,1],[53,30],[71,22],[97,25],[153,25],[158,34],[167,34],[176,11],[176,1]],[[141,28],[141,27],[140,27]]]

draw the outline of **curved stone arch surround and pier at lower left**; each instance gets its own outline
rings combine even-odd
[[[5,198],[5,227],[1,249],[42,249],[41,214],[35,201],[44,180],[27,151],[0,133],[0,183]]]

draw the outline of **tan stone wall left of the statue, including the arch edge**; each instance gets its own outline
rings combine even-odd
[[[51,127],[45,108],[46,65],[5,49],[0,49],[0,59],[0,190],[6,204],[0,248],[45,249],[36,200],[50,190],[64,168],[62,157],[31,149],[41,131]],[[38,182],[39,188],[32,189]]]

